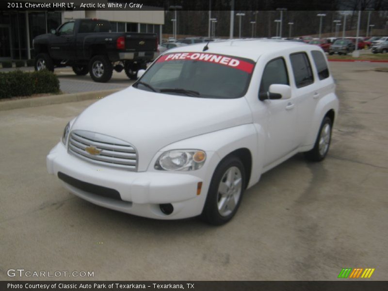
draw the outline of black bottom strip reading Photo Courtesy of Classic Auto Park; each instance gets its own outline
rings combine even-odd
[[[0,290],[382,291],[388,290],[388,281],[1,281]]]

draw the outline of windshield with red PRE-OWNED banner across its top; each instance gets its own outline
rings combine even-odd
[[[184,52],[162,55],[133,86],[205,98],[242,97],[255,62],[232,56]]]

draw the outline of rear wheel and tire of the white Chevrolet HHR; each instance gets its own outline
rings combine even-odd
[[[332,120],[327,116],[324,117],[314,147],[310,151],[305,152],[307,160],[320,162],[326,157],[331,142],[332,126]]]

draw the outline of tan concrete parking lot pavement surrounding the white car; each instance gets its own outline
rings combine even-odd
[[[335,280],[375,268],[371,279],[386,280],[388,73],[373,68],[388,65],[330,66],[340,113],[326,160],[300,154],[267,172],[221,227],[104,209],[47,174],[66,123],[95,100],[0,112],[0,280],[44,279],[7,276],[17,268],[97,280]]]

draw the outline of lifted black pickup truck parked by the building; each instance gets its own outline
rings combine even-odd
[[[90,73],[96,82],[107,82],[113,69],[123,69],[130,79],[157,56],[154,33],[112,32],[102,19],[75,19],[51,33],[33,39],[35,70],[71,66],[77,75]]]

